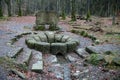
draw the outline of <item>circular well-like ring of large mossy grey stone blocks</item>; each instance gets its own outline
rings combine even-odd
[[[26,39],[26,44],[29,48],[43,53],[65,54],[74,51],[79,45],[79,40],[47,31],[31,35]]]

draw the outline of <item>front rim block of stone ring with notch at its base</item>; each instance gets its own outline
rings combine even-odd
[[[57,54],[57,53],[65,54],[66,52],[67,52],[67,45],[65,43],[52,43],[51,44],[52,54]]]

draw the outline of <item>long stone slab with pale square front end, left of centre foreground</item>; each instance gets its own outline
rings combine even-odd
[[[35,50],[32,51],[32,57],[29,64],[29,68],[35,72],[40,72],[43,70],[43,58],[41,52]]]

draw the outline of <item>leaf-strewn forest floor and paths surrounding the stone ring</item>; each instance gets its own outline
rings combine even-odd
[[[19,38],[12,46],[11,39],[16,35],[22,33],[38,32],[33,31],[35,25],[35,17],[11,17],[6,20],[0,20],[0,57],[8,56],[9,52],[14,51],[17,47],[22,47],[24,50],[29,50],[25,45],[25,38],[29,35],[24,35]],[[78,48],[85,49],[88,46],[95,45],[95,47],[102,47],[105,50],[118,50],[120,52],[120,24],[111,25],[111,18],[93,17],[91,22],[85,20],[70,21],[60,20],[58,25],[61,28],[61,33],[70,35],[73,38],[80,40]],[[97,27],[97,28],[96,28]],[[79,32],[84,31],[88,35],[97,38],[99,44],[95,44],[90,38],[82,36]],[[31,72],[30,70],[20,69],[18,71],[23,73],[27,80],[114,80],[120,79],[119,69],[106,69],[101,66],[93,66],[84,62],[84,58],[72,52],[67,55],[69,61],[65,57],[57,55],[58,61],[52,63],[52,54],[43,54],[44,70],[42,73]],[[69,56],[69,57],[68,57]],[[83,56],[83,55],[82,55]],[[52,57],[53,58],[53,57]],[[8,64],[9,60],[0,59],[0,78],[2,80],[22,80],[20,74],[13,74],[9,69],[12,63]],[[10,59],[11,60],[11,59]],[[7,61],[7,62],[6,62]],[[49,62],[51,62],[49,64]],[[4,70],[4,69],[5,70]],[[7,70],[6,70],[7,68]],[[4,71],[3,71],[4,70]],[[22,75],[22,74],[21,74]],[[6,77],[7,76],[7,77]],[[112,76],[112,77],[111,77]],[[22,75],[23,77],[23,75]],[[117,78],[116,78],[117,77]]]

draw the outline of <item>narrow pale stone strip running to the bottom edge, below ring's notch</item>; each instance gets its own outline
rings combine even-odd
[[[68,64],[63,65],[64,80],[71,80],[71,70]]]

